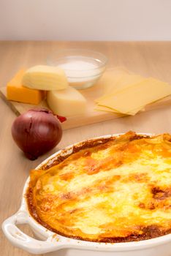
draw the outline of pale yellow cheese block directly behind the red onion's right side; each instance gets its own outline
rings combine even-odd
[[[65,90],[48,91],[47,104],[59,116],[77,116],[86,112],[86,99],[71,86]]]

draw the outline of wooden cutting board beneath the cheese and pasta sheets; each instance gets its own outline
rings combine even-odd
[[[67,118],[67,120],[63,124],[61,124],[63,129],[81,127],[86,124],[94,124],[101,121],[107,121],[114,118],[123,117],[123,115],[121,114],[107,113],[103,111],[94,110],[94,99],[100,97],[103,94],[103,87],[99,84],[91,87],[90,89],[80,90],[80,92],[87,99],[87,113],[84,116],[72,116]],[[4,102],[6,102],[7,105],[9,105],[9,108],[11,108],[11,110],[14,111],[16,116],[19,116],[21,113],[24,113],[26,112],[26,110],[29,110],[31,108],[48,108],[47,103],[45,101],[42,101],[38,106],[9,101],[7,99],[6,87],[0,88],[0,96],[2,99],[4,99]],[[145,107],[145,110],[143,111],[154,110],[167,105],[171,105],[171,96],[165,97],[164,99],[154,102],[153,104],[147,105]]]

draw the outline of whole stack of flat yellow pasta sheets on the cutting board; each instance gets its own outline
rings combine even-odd
[[[155,78],[144,78],[121,67],[108,69],[101,80],[104,94],[96,99],[96,110],[134,116],[145,106],[171,94],[171,86]]]

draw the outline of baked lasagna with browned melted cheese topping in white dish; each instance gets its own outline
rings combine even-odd
[[[171,135],[88,140],[31,170],[34,219],[62,236],[140,241],[171,233]]]

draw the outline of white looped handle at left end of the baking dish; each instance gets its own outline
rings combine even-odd
[[[22,214],[12,215],[12,217],[9,217],[2,223],[4,235],[14,246],[33,254],[54,252],[66,247],[64,242],[53,241],[53,235],[48,236],[45,241],[31,238],[31,236],[26,235],[17,227],[18,224],[26,223],[28,224],[26,215],[23,217]]]

